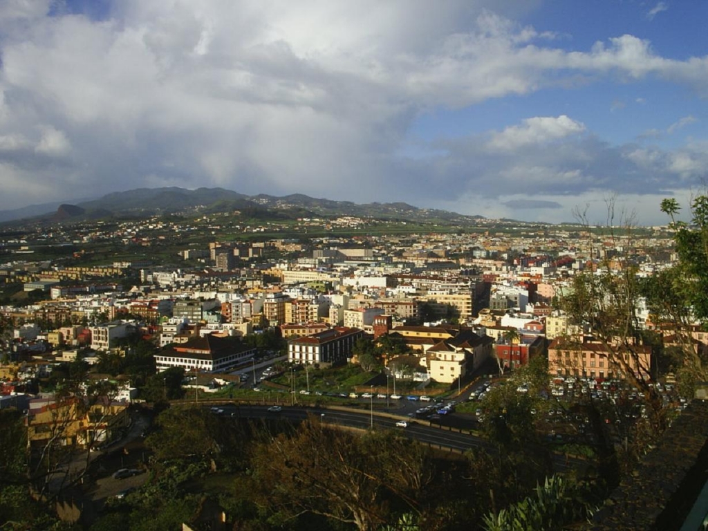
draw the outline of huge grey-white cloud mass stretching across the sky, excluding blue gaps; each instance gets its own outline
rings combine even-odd
[[[514,21],[538,4],[125,0],[93,20],[50,13],[49,1],[4,2],[0,164],[12,193],[0,208],[77,185],[421,205],[699,181],[701,147],[611,145],[570,111],[409,149],[411,124],[429,110],[578,79],[658,78],[708,96],[707,57],[661,57],[633,35],[568,50],[570,39]]]

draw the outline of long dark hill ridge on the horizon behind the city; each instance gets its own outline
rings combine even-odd
[[[44,212],[38,212],[45,209]],[[51,208],[50,208],[51,207]],[[29,207],[28,207],[29,208]],[[33,210],[0,212],[0,222],[10,219],[32,219],[35,222],[81,222],[84,219],[110,217],[144,217],[148,215],[182,214],[195,212],[247,212],[257,219],[293,217],[356,216],[400,221],[445,222],[474,224],[482,216],[464,216],[445,210],[413,207],[404,202],[367,203],[359,205],[350,201],[311,198],[304,194],[284,197],[273,195],[244,195],[224,188],[137,188],[115,192],[102,198],[76,202],[76,204],[38,205]],[[36,213],[35,213],[36,212]],[[13,217],[12,214],[18,217]]]

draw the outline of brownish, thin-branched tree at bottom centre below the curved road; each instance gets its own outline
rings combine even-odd
[[[258,445],[251,462],[273,518],[309,513],[370,531],[392,520],[392,506],[418,510],[426,461],[416,443],[392,433],[359,436],[306,421]]]

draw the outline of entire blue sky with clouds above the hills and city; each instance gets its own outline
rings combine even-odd
[[[0,210],[135,188],[666,224],[706,0],[2,0]],[[608,205],[615,205],[608,219]]]

